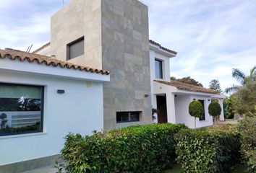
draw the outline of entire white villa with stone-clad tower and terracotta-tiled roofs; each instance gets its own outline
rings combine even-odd
[[[50,43],[33,53],[0,50],[0,173],[54,164],[69,132],[153,122],[195,128],[195,99],[205,108],[197,128],[213,125],[208,105],[224,97],[171,81],[177,53],[148,33],[140,1],[72,0],[51,17]]]

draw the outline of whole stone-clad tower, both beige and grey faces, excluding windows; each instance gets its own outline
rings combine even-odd
[[[69,62],[111,71],[104,130],[152,123],[148,35],[148,6],[137,0],[73,0],[51,17],[52,55],[66,61],[67,44],[84,37],[85,54]],[[140,121],[116,123],[124,111],[142,111]]]

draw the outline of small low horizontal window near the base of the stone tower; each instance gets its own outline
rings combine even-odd
[[[140,121],[141,112],[116,112],[116,123]]]

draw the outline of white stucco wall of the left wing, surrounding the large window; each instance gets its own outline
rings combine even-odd
[[[0,136],[0,165],[59,154],[67,133],[85,135],[103,128],[103,86],[99,82],[2,69],[0,82],[45,86],[43,133]],[[57,89],[65,93],[57,94]]]

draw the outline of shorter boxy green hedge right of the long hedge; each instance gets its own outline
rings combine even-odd
[[[229,172],[239,159],[239,135],[233,126],[181,130],[175,139],[184,172]]]

